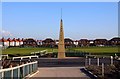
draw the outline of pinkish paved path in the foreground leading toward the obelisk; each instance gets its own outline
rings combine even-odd
[[[49,78],[49,77],[76,77],[79,79],[90,79],[81,70],[81,67],[44,67],[38,68],[38,73],[34,74],[33,78]],[[30,79],[32,79],[32,77]],[[41,79],[40,78],[40,79]],[[57,78],[58,79],[58,78]],[[65,78],[66,79],[66,78]],[[75,79],[75,78],[73,78]]]

